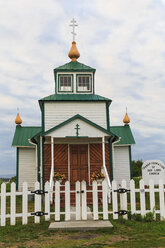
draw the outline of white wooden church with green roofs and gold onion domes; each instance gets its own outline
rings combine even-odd
[[[55,93],[39,100],[41,125],[22,126],[19,113],[12,146],[16,147],[17,190],[28,182],[33,189],[52,181],[54,172],[65,174],[71,185],[91,184],[94,171],[113,179],[132,177],[131,145],[135,144],[126,113],[123,126],[110,126],[112,100],[95,94],[95,72],[77,61],[76,42],[70,62],[54,69]]]

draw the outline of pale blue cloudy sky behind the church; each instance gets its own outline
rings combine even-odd
[[[0,0],[0,175],[16,171],[17,108],[22,126],[39,126],[38,99],[70,61],[73,17],[78,61],[96,68],[96,94],[112,99],[111,125],[123,125],[127,107],[132,158],[165,163],[164,13],[165,0]]]

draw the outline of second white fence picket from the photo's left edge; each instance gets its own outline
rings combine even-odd
[[[11,196],[10,196],[10,225],[15,225],[16,214],[16,184],[11,183]]]

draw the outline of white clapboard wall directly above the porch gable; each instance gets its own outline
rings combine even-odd
[[[105,103],[48,102],[45,103],[45,130],[47,131],[77,114],[107,128]]]

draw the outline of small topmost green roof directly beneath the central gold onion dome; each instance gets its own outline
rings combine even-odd
[[[62,72],[62,71],[88,71],[88,72],[95,72],[96,69],[84,65],[78,61],[71,61],[66,63],[65,65],[59,66],[54,69],[54,72]]]

